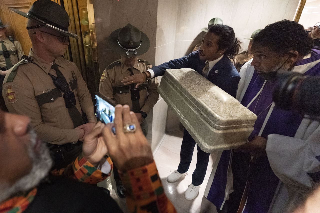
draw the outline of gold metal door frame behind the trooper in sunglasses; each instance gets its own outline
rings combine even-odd
[[[54,1],[62,2],[62,0]],[[79,37],[79,39],[70,39],[71,56],[67,51],[66,57],[77,65],[90,93],[94,94],[99,91],[100,73],[93,1],[63,0],[63,4],[70,17],[69,30]]]

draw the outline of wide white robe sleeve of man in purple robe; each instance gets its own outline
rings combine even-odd
[[[276,176],[299,193],[307,194],[320,180],[319,122],[303,119],[294,138],[268,135],[266,151]]]

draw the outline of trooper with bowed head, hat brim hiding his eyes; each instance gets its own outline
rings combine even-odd
[[[148,51],[150,41],[146,34],[128,24],[124,28],[112,32],[108,42],[111,49],[120,54],[121,59],[113,62],[103,71],[99,91],[116,104],[129,105],[140,121],[144,135],[147,135],[148,124],[145,118],[159,98],[159,93],[156,90],[157,79],[148,80],[138,88],[136,88],[136,84],[124,86],[121,81],[127,76],[143,73],[152,67],[148,61],[137,58]],[[117,169],[114,168],[113,171],[118,195],[124,198],[126,196],[125,188]]]

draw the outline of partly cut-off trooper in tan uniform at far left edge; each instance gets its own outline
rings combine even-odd
[[[8,25],[4,25],[0,20],[0,90],[2,91],[2,84],[4,76],[8,73],[13,65],[18,63],[21,56],[24,54],[22,46],[19,41],[13,40],[12,36],[7,37],[6,28]],[[8,111],[4,99],[0,97],[0,108],[4,111]]]

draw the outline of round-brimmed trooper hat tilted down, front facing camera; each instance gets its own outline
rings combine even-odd
[[[113,31],[108,43],[111,50],[127,57],[142,55],[150,47],[148,36],[131,24]]]

